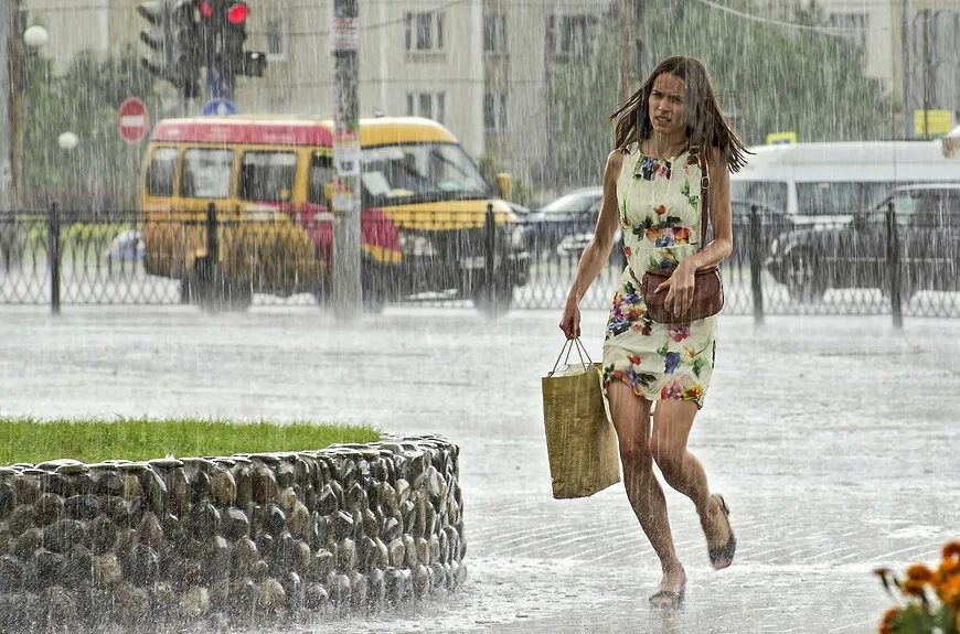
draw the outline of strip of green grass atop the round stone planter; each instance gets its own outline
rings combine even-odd
[[[371,427],[233,422],[199,418],[55,419],[0,417],[0,464],[72,458],[149,460],[174,455],[230,455],[323,449],[335,442],[373,442]]]

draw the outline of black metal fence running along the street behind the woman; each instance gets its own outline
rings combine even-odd
[[[178,248],[202,247],[221,259],[235,260],[234,267],[245,272],[233,273],[235,286],[228,291],[241,297],[241,308],[323,303],[323,280],[331,266],[323,240],[329,245],[332,223],[319,216],[307,222],[249,219],[212,206],[211,212],[205,217],[168,214],[162,223],[156,218],[146,223],[140,212],[64,212],[56,206],[0,212],[0,303],[49,304],[57,312],[64,304],[195,302],[198,291],[183,279],[202,270],[183,268],[186,265],[170,260],[170,254],[150,252],[145,233],[161,225],[170,236],[179,236]],[[960,315],[960,240],[943,232],[924,234],[898,226],[893,207],[887,222],[875,227],[823,225],[777,236],[766,235],[757,215],[753,216],[735,222],[736,247],[722,267],[728,314],[753,314],[758,321],[780,314],[889,314],[895,324],[904,315]],[[399,240],[394,259],[416,258],[419,268],[408,271],[414,281],[406,280],[402,297],[386,303],[474,304],[482,310],[487,295],[476,289],[486,279],[484,270],[492,267],[499,273],[513,267],[512,279],[522,286],[512,293],[508,289],[501,301],[513,310],[558,310],[594,228],[593,221],[574,217],[548,225],[529,218],[508,224],[491,213],[472,214],[469,219],[465,212],[452,211],[430,213],[429,219],[423,213],[418,217],[417,230],[394,236]],[[372,240],[375,248],[385,246],[377,243],[383,238],[377,226],[390,225],[383,216],[380,219],[383,225],[364,218],[364,241]],[[277,241],[278,235],[286,237]],[[582,308],[609,304],[623,270],[623,258],[619,249],[615,251]],[[525,254],[522,261],[515,257],[521,252]],[[280,272],[265,272],[269,267]],[[148,269],[169,276],[149,275]],[[270,288],[266,278],[277,276],[289,279]],[[188,281],[199,283],[201,277],[193,275]],[[381,290],[395,281],[384,275],[365,279]],[[468,283],[474,291],[452,288],[457,283]]]

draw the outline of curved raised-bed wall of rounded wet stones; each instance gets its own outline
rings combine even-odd
[[[426,436],[0,469],[0,631],[233,625],[452,590],[458,455]]]

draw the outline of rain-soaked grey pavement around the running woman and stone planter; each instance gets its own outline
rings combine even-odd
[[[584,314],[596,356],[605,316]],[[897,332],[888,316],[756,329],[724,315],[690,444],[730,506],[739,550],[713,571],[692,504],[668,488],[687,600],[650,610],[659,567],[622,487],[550,495],[540,377],[563,343],[558,319],[0,307],[0,413],[365,422],[459,443],[466,587],[277,632],[875,632],[889,599],[871,570],[935,561],[960,537],[960,321]]]

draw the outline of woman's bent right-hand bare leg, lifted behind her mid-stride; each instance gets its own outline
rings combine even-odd
[[[719,499],[711,495],[706,472],[686,448],[696,406],[682,400],[662,400],[653,412],[651,452],[663,480],[693,501],[707,546],[718,547],[730,536]]]

